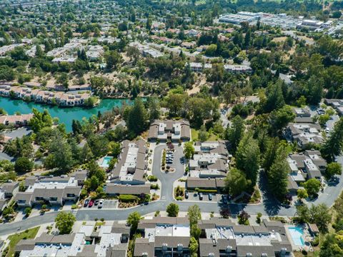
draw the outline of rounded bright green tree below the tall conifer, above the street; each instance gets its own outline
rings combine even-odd
[[[225,189],[233,196],[238,196],[245,191],[251,181],[247,181],[245,174],[237,168],[232,168],[225,178]]]

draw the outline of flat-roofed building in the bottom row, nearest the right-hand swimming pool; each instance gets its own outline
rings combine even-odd
[[[199,238],[200,257],[292,256],[284,225],[263,221],[260,226],[236,225],[223,218],[199,222],[206,238]]]

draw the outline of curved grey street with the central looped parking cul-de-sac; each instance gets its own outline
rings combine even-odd
[[[219,213],[221,208],[229,208],[232,214],[237,214],[244,210],[251,215],[256,215],[257,213],[262,213],[268,216],[294,216],[296,208],[295,206],[284,207],[281,206],[273,196],[267,192],[266,181],[264,176],[259,178],[259,187],[262,192],[262,203],[259,204],[243,204],[243,203],[231,203],[227,206],[222,206],[221,203],[208,202],[208,201],[175,201],[173,197],[173,184],[174,181],[181,178],[184,175],[184,167],[180,159],[183,156],[183,151],[181,146],[175,147],[174,153],[174,166],[176,171],[173,173],[161,172],[161,155],[163,149],[166,145],[156,146],[154,151],[154,161],[152,167],[152,173],[154,176],[159,178],[161,181],[161,198],[158,201],[150,202],[146,205],[142,204],[133,208],[126,209],[79,209],[76,212],[76,219],[78,221],[93,221],[94,218],[104,218],[109,221],[122,221],[126,220],[127,216],[133,211],[139,211],[141,215],[146,215],[148,213],[154,213],[155,211],[165,211],[166,206],[169,203],[177,203],[179,205],[180,211],[187,211],[189,206],[197,204],[202,211]],[[337,162],[343,163],[343,157],[339,156]],[[343,174],[339,176],[339,182],[333,185],[327,186],[323,193],[319,194],[319,197],[308,204],[311,205],[326,203],[327,206],[332,206],[335,199],[339,196],[343,188]],[[14,223],[1,224],[0,235],[5,235],[9,233],[15,233],[16,231],[23,231],[27,228],[34,226],[39,226],[44,223],[54,222],[56,218],[57,211],[46,213],[42,216],[34,216],[32,218],[26,218],[23,221],[17,221]]]

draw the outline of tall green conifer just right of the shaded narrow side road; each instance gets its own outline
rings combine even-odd
[[[272,166],[270,166],[269,171],[267,171],[268,187],[279,201],[284,200],[284,196],[286,196],[288,192],[287,177],[289,165],[286,158],[287,152],[285,151],[284,146],[279,146]]]

